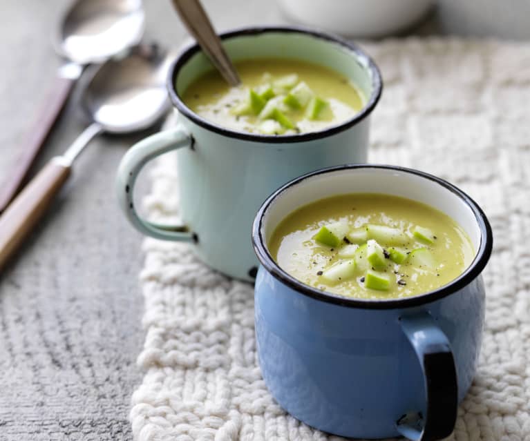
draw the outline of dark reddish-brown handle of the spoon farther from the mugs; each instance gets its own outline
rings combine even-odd
[[[23,184],[33,161],[35,161],[62,108],[64,108],[74,84],[75,81],[70,78],[57,77],[55,79],[54,88],[46,99],[45,106],[43,106],[33,126],[28,130],[26,141],[19,149],[20,154],[15,161],[12,172],[0,184],[0,213],[6,209]]]

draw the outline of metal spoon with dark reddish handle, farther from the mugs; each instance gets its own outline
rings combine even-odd
[[[140,43],[143,33],[141,0],[77,0],[66,12],[55,37],[55,50],[69,61],[59,68],[53,92],[28,131],[12,175],[0,185],[0,213],[19,190],[84,66]]]

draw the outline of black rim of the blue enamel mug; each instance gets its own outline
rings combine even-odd
[[[261,234],[263,216],[267,212],[267,209],[272,204],[272,202],[274,202],[274,199],[281,195],[281,193],[283,193],[285,190],[288,190],[293,186],[301,184],[301,182],[305,181],[306,179],[310,179],[311,177],[322,175],[325,173],[332,173],[334,171],[339,170],[354,170],[359,168],[397,170],[402,173],[417,175],[419,177],[423,177],[425,179],[429,179],[430,181],[436,182],[437,184],[446,188],[446,190],[451,191],[451,193],[453,193],[457,197],[460,197],[460,199],[462,199],[462,201],[464,201],[466,205],[469,206],[473,211],[473,214],[475,215],[475,219],[480,229],[480,244],[478,246],[478,250],[475,255],[475,258],[473,259],[473,262],[471,262],[468,268],[466,268],[466,271],[464,271],[459,277],[457,277],[452,282],[441,286],[433,291],[428,291],[427,293],[414,295],[411,297],[389,300],[362,300],[343,297],[341,295],[334,295],[332,293],[325,293],[324,291],[321,291],[317,288],[312,288],[312,286],[303,284],[299,280],[296,280],[294,277],[292,277],[292,275],[289,275],[285,271],[283,271],[283,269],[280,268],[280,266],[278,266],[276,262],[274,262],[274,259],[270,255],[267,246],[265,246],[265,238]],[[265,202],[263,202],[261,208],[258,210],[256,218],[254,219],[254,224],[252,226],[252,245],[254,246],[254,251],[258,256],[259,261],[269,273],[276,277],[276,279],[278,279],[280,282],[283,282],[290,288],[303,295],[312,297],[315,300],[321,300],[323,302],[338,304],[341,306],[349,306],[351,308],[395,309],[410,308],[413,306],[421,306],[426,303],[434,302],[435,300],[439,300],[442,297],[451,295],[456,291],[460,291],[460,289],[464,288],[464,286],[467,286],[471,281],[475,280],[475,278],[478,277],[480,273],[482,273],[482,270],[484,269],[484,266],[486,266],[486,263],[488,262],[489,257],[491,255],[491,249],[493,247],[493,233],[491,231],[489,221],[480,206],[478,206],[477,203],[473,199],[471,199],[471,197],[469,197],[469,195],[466,195],[466,193],[460,190],[460,188],[453,186],[453,184],[450,184],[444,179],[441,179],[434,175],[430,175],[428,173],[421,172],[419,170],[414,170],[412,168],[388,165],[376,166],[371,164],[347,164],[343,166],[322,168],[321,170],[316,170],[314,172],[307,173],[306,175],[303,175],[301,177],[297,177],[296,179],[287,182],[287,184],[281,186],[281,188],[278,188],[278,190],[272,193],[272,195],[267,197]]]

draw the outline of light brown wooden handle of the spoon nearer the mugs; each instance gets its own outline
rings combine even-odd
[[[51,159],[0,216],[0,268],[32,231],[68,179],[70,166],[61,159]]]

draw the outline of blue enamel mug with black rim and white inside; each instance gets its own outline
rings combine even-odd
[[[293,210],[345,193],[384,193],[442,211],[464,228],[475,257],[457,279],[415,297],[359,300],[285,273],[267,242]],[[318,170],[276,190],[252,231],[258,358],[278,404],[322,431],[353,438],[439,440],[454,429],[471,386],[484,324],[481,272],[493,237],[473,200],[442,179],[395,166]]]

